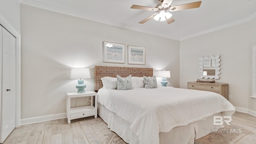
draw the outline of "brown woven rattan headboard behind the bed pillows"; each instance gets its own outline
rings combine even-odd
[[[130,74],[132,76],[153,76],[153,68],[131,68],[118,66],[95,66],[94,67],[94,90],[98,91],[102,88],[102,81],[100,78],[110,76],[116,78],[116,75],[126,77]]]

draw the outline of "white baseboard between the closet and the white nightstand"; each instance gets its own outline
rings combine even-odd
[[[33,124],[33,123],[37,123],[37,122],[45,122],[45,121],[49,121],[49,120],[58,120],[61,118],[66,118],[66,113],[62,113],[62,114],[52,114],[52,115],[48,115],[48,116],[38,116],[38,117],[34,117],[34,118],[24,118],[21,119],[21,125],[25,125],[25,124]]]

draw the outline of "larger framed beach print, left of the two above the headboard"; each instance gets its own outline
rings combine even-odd
[[[103,62],[125,63],[125,45],[103,41]]]

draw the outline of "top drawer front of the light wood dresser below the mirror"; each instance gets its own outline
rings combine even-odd
[[[188,83],[188,89],[194,89],[194,90],[206,90],[211,92],[219,92],[219,86],[218,85],[210,85],[210,84],[192,84]]]

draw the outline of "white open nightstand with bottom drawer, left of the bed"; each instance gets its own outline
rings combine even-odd
[[[70,108],[70,99],[71,98],[79,98],[79,97],[91,97],[91,105],[90,106],[81,106],[76,108]],[[95,97],[94,106],[93,106],[93,96]],[[77,92],[68,92],[67,93],[67,118],[68,124],[70,124],[71,120],[77,118],[84,118],[88,116],[94,116],[97,118],[97,93],[93,91],[86,91],[84,93],[77,93]]]

